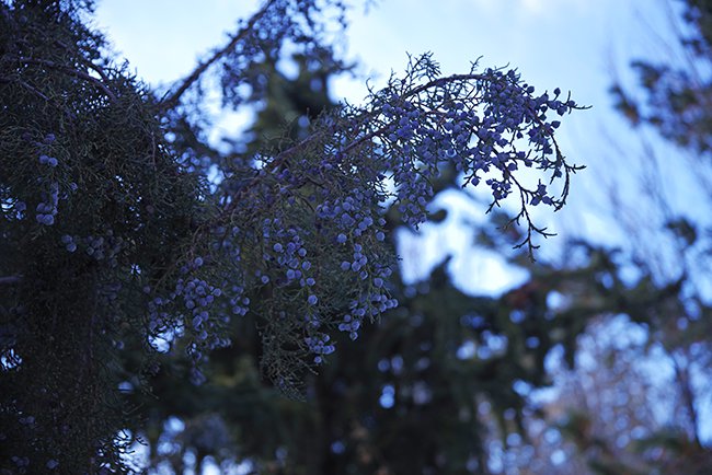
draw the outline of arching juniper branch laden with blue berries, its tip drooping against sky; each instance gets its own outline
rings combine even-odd
[[[533,234],[547,233],[528,208],[563,206],[578,170],[564,160],[554,131],[561,116],[579,107],[559,89],[535,94],[514,70],[478,72],[473,65],[468,74],[443,77],[423,55],[369,100],[317,120],[301,142],[259,155],[252,179],[244,170],[222,170],[229,193],[221,231],[213,232],[221,253],[213,262],[227,258],[233,271],[218,287],[230,291],[232,313],[253,310],[271,320],[277,348],[297,346],[317,363],[334,349],[330,331],[356,339],[364,320],[398,304],[388,292],[395,263],[386,240],[389,206],[417,228],[434,181],[451,166],[463,185],[485,184],[492,206],[518,197],[515,220],[528,227],[520,245],[531,252]],[[531,169],[535,185],[522,169]],[[268,301],[250,304],[245,296],[260,288]]]

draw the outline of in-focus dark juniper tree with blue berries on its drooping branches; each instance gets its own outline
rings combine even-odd
[[[343,24],[345,7],[268,0],[166,93],[117,66],[92,9],[0,3],[5,472],[126,470],[122,429],[136,410],[118,384],[176,349],[199,384],[210,351],[230,344],[228,323],[248,311],[262,322],[264,373],[298,393],[335,334],[356,339],[397,305],[384,206],[417,227],[445,164],[490,188],[493,207],[518,200],[529,251],[547,235],[529,209],[565,202],[577,169],[554,130],[577,106],[559,90],[536,94],[514,70],[441,76],[429,55],[415,57],[301,138],[206,154],[191,146],[205,143],[205,78],[240,107],[264,86],[266,58],[295,48],[333,58],[325,25]]]

